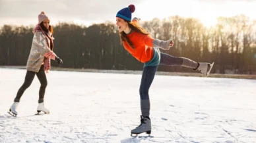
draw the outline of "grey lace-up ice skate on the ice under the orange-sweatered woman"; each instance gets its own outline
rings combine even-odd
[[[131,130],[131,136],[132,137],[137,137],[138,134],[141,134],[143,132],[146,132],[148,136],[151,134],[151,121],[149,117],[144,117],[141,115],[141,125],[139,127]],[[135,136],[133,136],[135,134]]]

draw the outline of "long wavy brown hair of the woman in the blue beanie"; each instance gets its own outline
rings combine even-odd
[[[131,30],[134,30],[135,32],[144,34],[144,35],[148,35],[149,33],[146,32],[146,30],[144,30],[141,26],[137,25],[137,24],[133,24],[132,22],[128,22],[127,20],[125,20],[125,22],[128,23],[129,28],[131,28]],[[133,43],[131,43],[131,41],[127,38],[127,34],[125,34],[125,32],[119,32],[119,36],[120,36],[120,43],[122,44],[124,41],[126,41],[132,48],[133,47]]]

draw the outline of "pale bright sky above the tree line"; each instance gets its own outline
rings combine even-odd
[[[179,15],[199,18],[205,26],[214,25],[218,16],[245,14],[256,20],[256,0],[0,0],[0,26],[34,25],[41,11],[51,24],[115,22],[115,14],[130,4],[136,7],[133,17],[141,20]]]

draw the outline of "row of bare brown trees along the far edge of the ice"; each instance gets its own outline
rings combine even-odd
[[[153,38],[174,40],[174,47],[162,51],[197,62],[215,62],[212,72],[255,74],[256,21],[247,16],[219,17],[206,27],[197,18],[170,16],[141,22]],[[26,65],[34,26],[4,25],[0,28],[0,65]],[[53,26],[53,51],[65,68],[142,70],[120,44],[112,22],[81,26],[60,22]],[[57,66],[52,62],[53,66]],[[158,71],[191,72],[182,67],[160,65]]]

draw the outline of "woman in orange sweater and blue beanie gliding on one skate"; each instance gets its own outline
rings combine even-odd
[[[131,13],[135,11],[134,5],[129,5],[118,11],[116,14],[116,25],[118,26],[120,41],[123,47],[133,55],[138,61],[144,63],[143,75],[141,78],[141,86],[139,89],[141,96],[141,125],[131,130],[132,134],[140,134],[146,132],[151,133],[151,122],[149,117],[150,100],[148,90],[154,75],[158,69],[158,65],[182,66],[201,72],[202,76],[208,76],[212,69],[210,63],[197,63],[185,57],[173,57],[159,51],[159,48],[168,50],[174,45],[172,40],[158,40],[150,36],[141,26],[139,19],[131,20]]]

